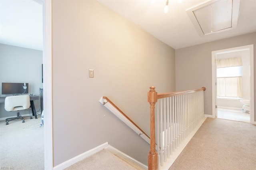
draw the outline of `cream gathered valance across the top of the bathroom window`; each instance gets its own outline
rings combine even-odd
[[[216,68],[242,66],[242,57],[216,59]]]

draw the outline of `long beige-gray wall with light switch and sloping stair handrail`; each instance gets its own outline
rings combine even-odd
[[[54,166],[104,142],[147,164],[149,144],[99,100],[109,97],[150,134],[152,85],[175,90],[173,48],[95,0],[52,1]]]

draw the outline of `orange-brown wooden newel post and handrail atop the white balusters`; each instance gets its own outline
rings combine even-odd
[[[205,91],[206,88],[202,87],[201,89],[188,90],[188,91],[178,91],[171,93],[160,93],[157,94],[155,87],[151,86],[150,91],[148,92],[148,102],[150,104],[150,151],[148,153],[148,170],[157,170],[158,169],[158,154],[156,152],[156,132],[155,132],[155,104],[158,99],[165,97],[172,97],[176,95],[194,93],[196,91]]]

